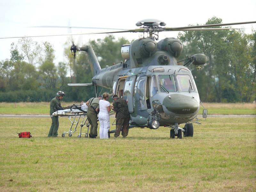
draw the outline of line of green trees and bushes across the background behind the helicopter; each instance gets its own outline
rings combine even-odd
[[[213,17],[205,24],[220,23]],[[196,53],[208,57],[200,71],[190,66],[200,98],[204,102],[252,102],[256,99],[256,32],[243,30],[186,31],[178,38],[183,43],[179,60]],[[130,42],[108,35],[91,40],[101,68],[119,63],[121,45]],[[92,82],[87,54],[76,59],[65,44],[65,62],[55,63],[53,45],[21,38],[12,43],[10,59],[0,61],[0,102],[49,101],[57,91],[66,94],[65,101],[87,100],[94,96],[94,87],[70,87],[68,83]],[[108,91],[101,89],[101,92]],[[108,91],[109,92],[109,91]]]

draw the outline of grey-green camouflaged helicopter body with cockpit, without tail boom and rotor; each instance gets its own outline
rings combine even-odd
[[[132,55],[131,48],[129,54]],[[138,63],[133,67],[135,59],[130,57],[98,70],[92,83],[111,89],[113,94],[126,100],[130,124],[136,127],[148,126],[152,118],[159,121],[160,126],[194,119],[200,100],[190,70],[177,65],[175,57],[164,50],[158,49],[154,55],[144,57],[141,67]]]

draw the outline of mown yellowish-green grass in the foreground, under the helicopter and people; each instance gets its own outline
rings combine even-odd
[[[0,122],[0,191],[256,190],[255,118],[208,118],[181,140],[164,127],[133,128],[126,139],[61,138],[64,117],[58,138],[46,137],[50,118]],[[19,139],[22,131],[34,138]]]

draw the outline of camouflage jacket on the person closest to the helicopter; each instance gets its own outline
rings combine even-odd
[[[113,102],[114,111],[116,112],[116,118],[130,117],[128,105],[125,100],[118,98]]]

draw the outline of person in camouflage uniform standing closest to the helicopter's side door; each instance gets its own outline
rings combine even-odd
[[[116,133],[115,138],[120,135],[122,131],[123,138],[128,135],[129,132],[129,110],[125,100],[118,98],[117,95],[113,95],[113,110],[116,112]]]

